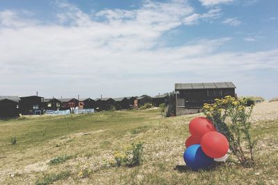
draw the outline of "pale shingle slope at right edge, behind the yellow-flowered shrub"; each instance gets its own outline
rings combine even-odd
[[[278,101],[257,103],[254,106],[251,121],[269,121],[278,119]]]

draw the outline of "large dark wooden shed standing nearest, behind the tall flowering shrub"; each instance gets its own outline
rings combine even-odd
[[[177,83],[176,115],[200,112],[204,103],[213,103],[215,98],[236,97],[236,86],[232,82]]]

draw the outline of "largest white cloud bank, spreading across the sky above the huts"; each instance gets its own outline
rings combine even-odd
[[[109,9],[91,15],[68,3],[60,7],[60,19],[54,24],[22,19],[10,10],[0,13],[0,73],[6,77],[0,78],[2,94],[155,95],[156,89],[172,90],[177,81],[229,80],[240,71],[278,69],[277,49],[219,53],[231,38],[159,45],[164,33],[194,15],[186,1],[145,1],[136,10]],[[191,19],[210,20],[219,13],[213,9]]]

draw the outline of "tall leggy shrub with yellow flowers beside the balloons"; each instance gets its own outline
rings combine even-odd
[[[246,102],[243,100],[225,96],[223,99],[215,99],[215,103],[204,104],[202,109],[218,132],[227,137],[231,152],[245,167],[254,166],[256,140],[250,135],[249,121],[252,108],[252,106],[246,107]]]

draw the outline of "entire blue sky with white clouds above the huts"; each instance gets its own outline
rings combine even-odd
[[[0,95],[278,96],[277,0],[0,0]]]

